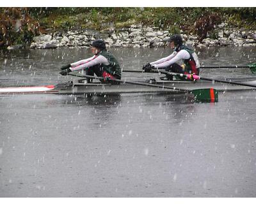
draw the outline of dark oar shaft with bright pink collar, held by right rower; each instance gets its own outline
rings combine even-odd
[[[159,69],[152,69],[151,70],[153,73],[163,73],[166,75],[173,75],[173,76],[179,76],[179,77],[186,77],[188,79],[191,80],[198,80],[198,79],[202,79],[202,80],[207,80],[207,81],[212,81],[212,82],[221,82],[221,83],[226,83],[226,84],[234,84],[234,85],[244,85],[247,87],[256,87],[256,85],[250,85],[250,84],[244,84],[243,82],[232,82],[231,80],[220,80],[220,79],[216,79],[216,78],[209,78],[209,77],[201,77],[198,75],[186,75],[186,74],[180,74],[180,73],[174,73],[174,72],[169,72],[169,71],[161,71]]]

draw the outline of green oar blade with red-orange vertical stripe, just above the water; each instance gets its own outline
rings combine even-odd
[[[218,91],[216,89],[195,89],[191,91],[196,102],[218,102]]]

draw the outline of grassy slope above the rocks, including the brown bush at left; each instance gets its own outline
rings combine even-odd
[[[180,29],[188,31],[196,20],[212,13],[229,26],[256,29],[256,8],[0,8],[0,47],[29,43],[33,36],[44,32],[104,31],[132,24],[157,26],[177,33]]]

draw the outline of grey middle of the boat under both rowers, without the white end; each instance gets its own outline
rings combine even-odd
[[[243,81],[244,84],[256,85],[256,80]],[[253,87],[247,87],[244,85],[232,85],[224,84],[220,82],[208,82],[204,80],[198,80],[196,82],[184,82],[184,81],[158,81],[152,84],[161,85],[163,87],[148,87],[145,85],[134,85],[134,84],[84,84],[84,83],[74,83],[70,86],[63,86],[59,89],[59,94],[121,94],[121,93],[180,93],[184,91],[179,91],[179,89],[185,89],[187,91],[193,91],[195,89],[216,89],[220,92],[223,91],[245,91],[253,90]],[[164,89],[164,86],[172,87],[173,89]]]

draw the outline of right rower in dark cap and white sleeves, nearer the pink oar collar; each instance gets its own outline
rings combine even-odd
[[[150,72],[152,68],[165,69],[175,73],[199,74],[200,63],[198,56],[191,48],[183,45],[180,34],[173,34],[169,41],[170,48],[173,53],[168,57],[164,57],[154,62],[147,63],[143,66],[145,72]],[[177,62],[182,61],[181,64]],[[166,75],[168,80],[172,80],[172,75]]]

